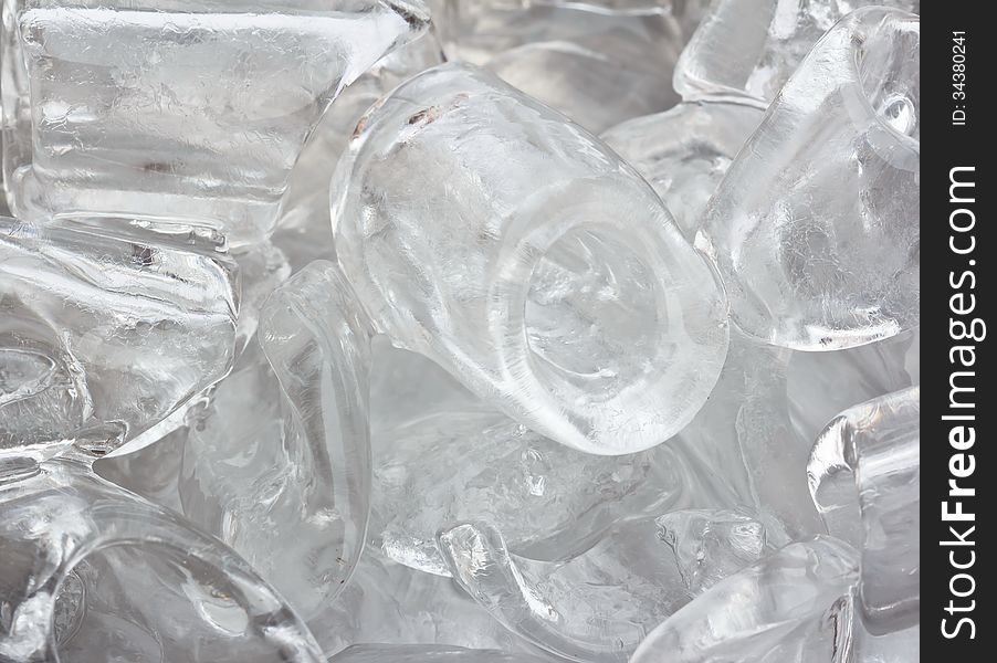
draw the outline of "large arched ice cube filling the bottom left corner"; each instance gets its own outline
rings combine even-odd
[[[0,511],[4,661],[323,660],[244,560],[85,463],[0,456]]]

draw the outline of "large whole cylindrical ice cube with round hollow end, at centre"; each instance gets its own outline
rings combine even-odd
[[[371,110],[336,181],[336,250],[379,330],[521,423],[622,454],[702,407],[722,288],[637,173],[553,110],[442,65]]]

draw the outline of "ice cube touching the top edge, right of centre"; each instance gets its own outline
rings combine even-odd
[[[686,102],[765,108],[847,12],[837,0],[715,0],[682,51],[674,87]]]

